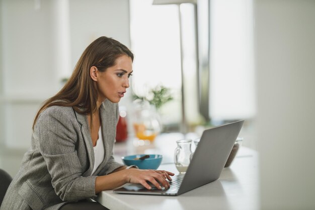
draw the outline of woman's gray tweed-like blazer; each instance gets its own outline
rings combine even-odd
[[[71,107],[52,106],[35,124],[30,150],[13,179],[0,210],[59,209],[65,202],[96,197],[95,179],[123,165],[113,156],[118,105],[100,107],[105,157],[91,175],[94,150],[87,116]]]

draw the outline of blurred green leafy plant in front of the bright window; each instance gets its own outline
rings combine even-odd
[[[139,96],[135,93],[132,94],[133,100],[147,101],[156,109],[160,109],[165,103],[173,100],[170,89],[164,86],[157,86],[149,90],[146,96]]]

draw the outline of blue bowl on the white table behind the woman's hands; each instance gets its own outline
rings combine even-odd
[[[161,162],[162,162],[162,155],[149,155],[149,158],[146,158],[144,160],[134,160],[135,158],[140,158],[142,156],[145,156],[146,154],[139,154],[139,155],[128,155],[122,157],[122,161],[125,165],[136,165],[139,169],[157,169],[159,168]]]

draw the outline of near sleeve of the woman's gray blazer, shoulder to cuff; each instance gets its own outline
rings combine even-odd
[[[49,107],[39,116],[37,130],[39,149],[52,178],[52,186],[63,201],[95,197],[96,176],[83,177],[84,169],[76,152],[77,130],[73,111]]]

